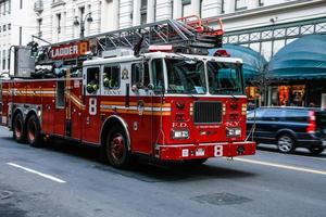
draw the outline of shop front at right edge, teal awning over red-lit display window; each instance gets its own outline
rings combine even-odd
[[[268,105],[326,107],[326,36],[302,37],[268,63]]]

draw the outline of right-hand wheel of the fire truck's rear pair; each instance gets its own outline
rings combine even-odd
[[[40,124],[35,115],[27,120],[27,141],[30,146],[41,148],[43,145],[42,136],[40,133]]]

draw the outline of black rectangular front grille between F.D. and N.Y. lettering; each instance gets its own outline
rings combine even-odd
[[[221,102],[195,102],[195,124],[216,124],[222,122]]]

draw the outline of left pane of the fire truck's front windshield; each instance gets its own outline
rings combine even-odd
[[[204,63],[186,59],[165,59],[168,93],[204,94]]]

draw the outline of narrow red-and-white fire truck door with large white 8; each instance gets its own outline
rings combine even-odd
[[[89,66],[84,68],[83,85],[85,89],[84,104],[86,110],[82,117],[83,141],[99,144],[100,120],[100,67]]]

